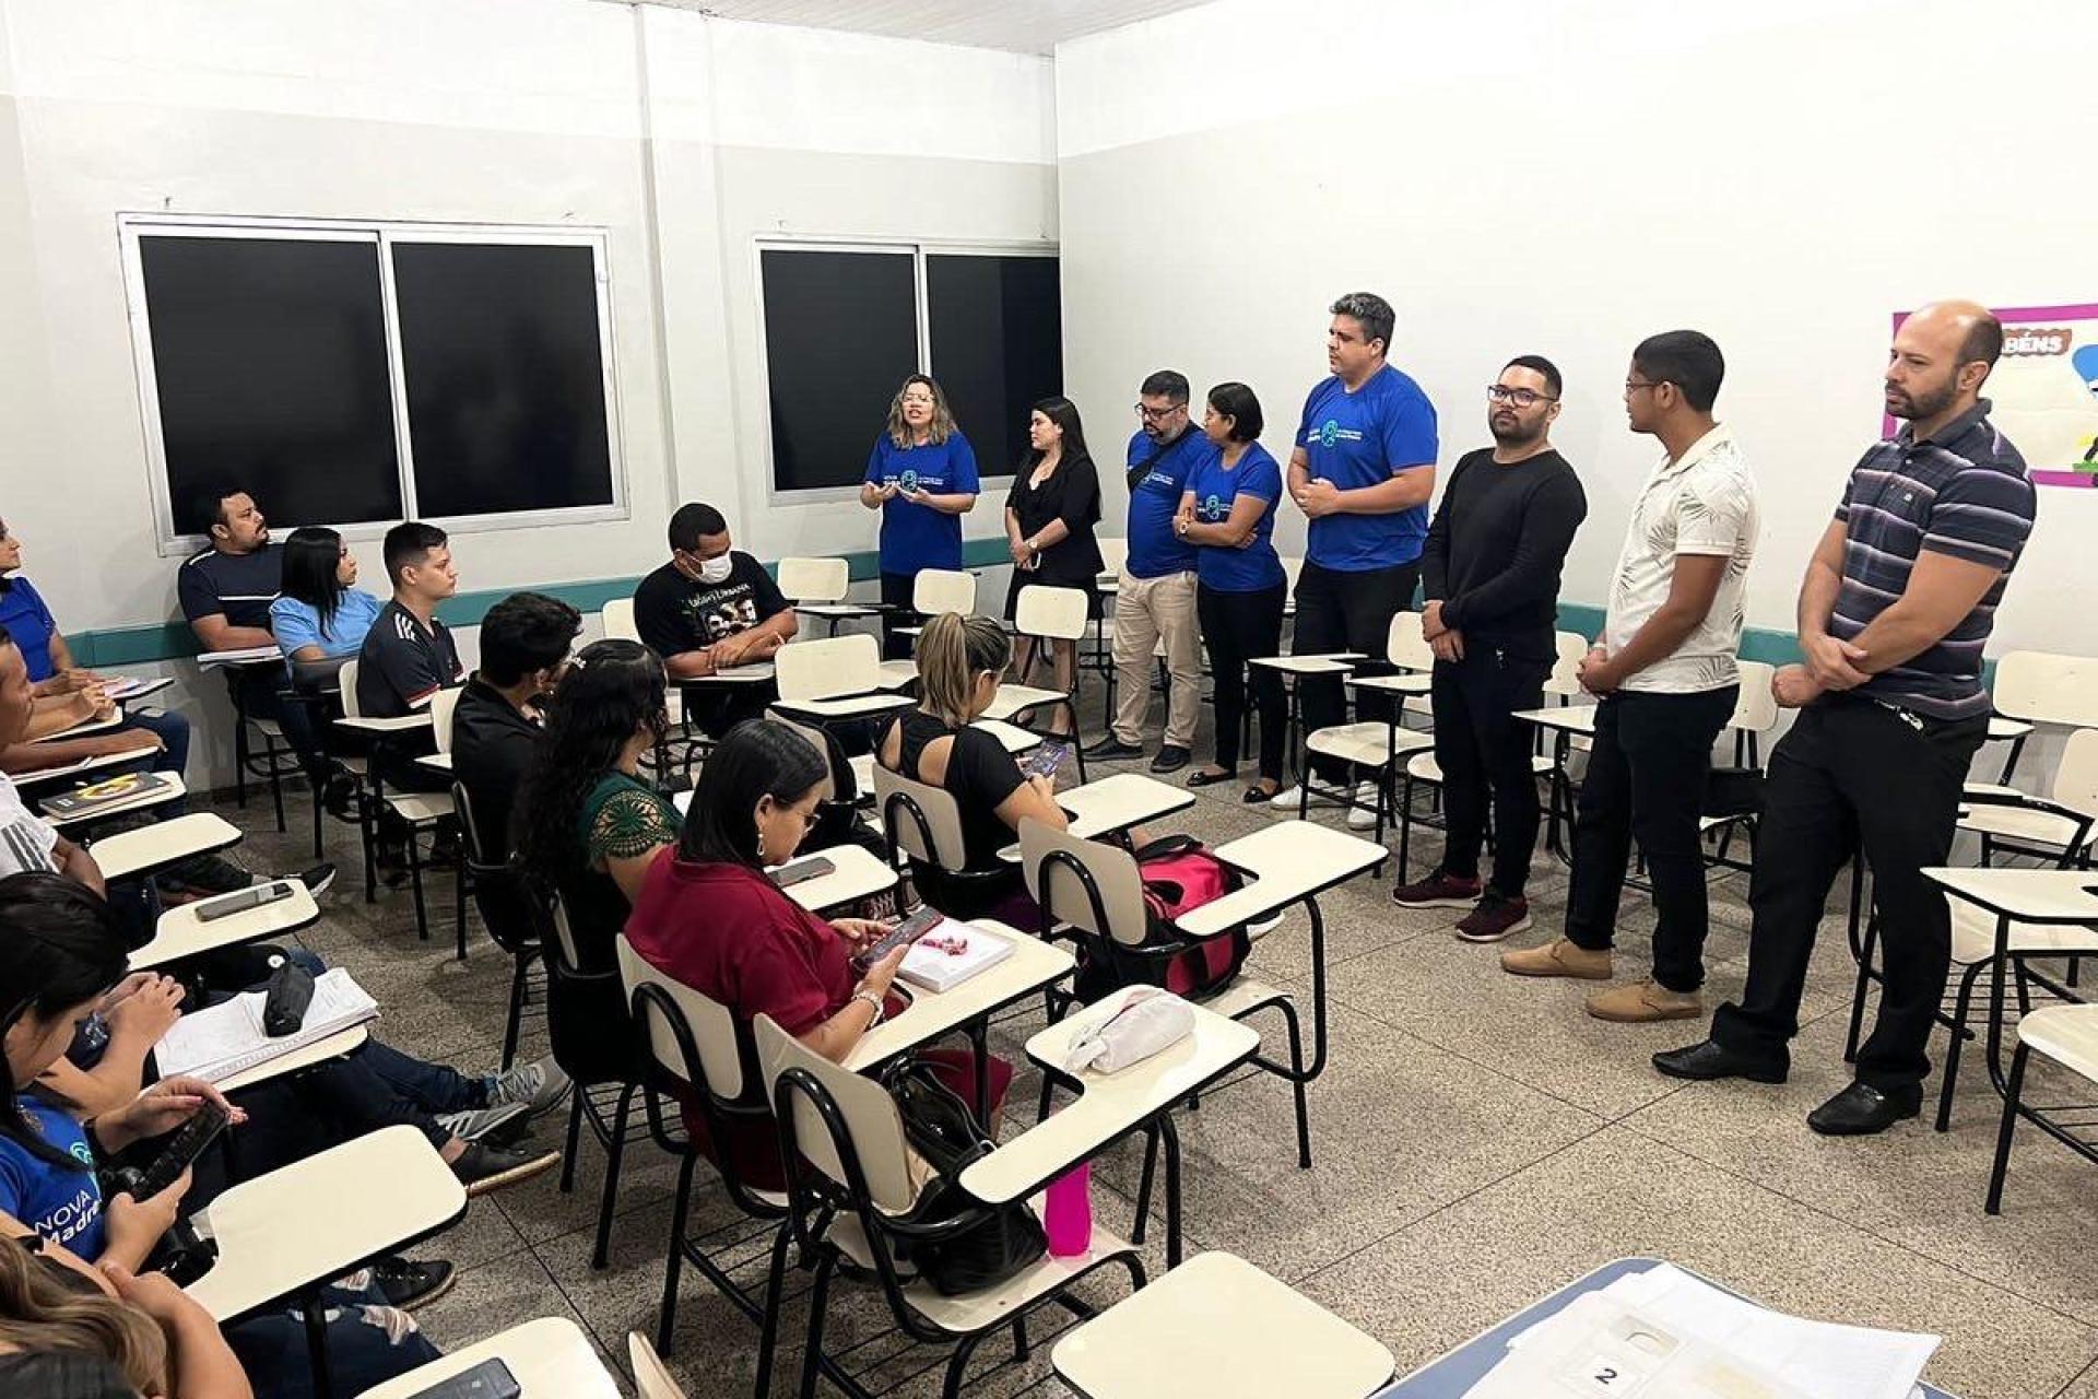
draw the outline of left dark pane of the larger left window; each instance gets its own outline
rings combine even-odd
[[[287,526],[401,518],[376,243],[141,237],[138,264],[176,531],[220,487]]]

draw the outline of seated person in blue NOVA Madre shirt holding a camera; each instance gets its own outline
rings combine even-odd
[[[0,1233],[36,1235],[57,1263],[92,1275],[99,1267],[136,1273],[183,1214],[191,1172],[147,1200],[103,1196],[97,1166],[183,1126],[206,1103],[233,1122],[245,1114],[201,1078],[166,1078],[115,1112],[80,1120],[34,1084],[73,1042],[80,1026],[124,977],[126,944],[107,906],[61,875],[0,881],[0,1036],[8,1080],[0,1095]],[[145,1143],[145,1145],[143,1145]],[[315,1200],[315,1208],[325,1208]],[[329,1382],[365,1389],[436,1359],[415,1321],[386,1305],[363,1279],[357,1290],[323,1290]],[[264,1307],[227,1328],[250,1380],[266,1395],[311,1395],[306,1326],[294,1307]]]

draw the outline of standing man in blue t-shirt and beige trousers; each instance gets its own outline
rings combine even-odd
[[[1202,638],[1194,617],[1194,545],[1173,529],[1187,476],[1215,459],[1187,422],[1187,375],[1160,369],[1137,390],[1143,428],[1129,438],[1129,558],[1114,594],[1114,675],[1120,694],[1108,736],[1087,757],[1141,757],[1152,703],[1152,652],[1166,650],[1166,732],[1152,772],[1179,772],[1202,713]]]

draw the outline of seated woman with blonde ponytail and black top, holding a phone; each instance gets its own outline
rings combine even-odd
[[[992,917],[1032,929],[1041,914],[1018,864],[999,860],[1028,816],[1064,831],[1070,820],[1043,776],[1022,776],[1020,763],[992,734],[971,728],[999,696],[999,677],[1013,659],[1011,638],[988,617],[942,612],[919,633],[919,707],[881,736],[875,761],[890,772],[938,787],[961,810],[963,862],[986,879],[967,891],[940,889],[932,904],[959,919]],[[936,889],[940,879],[929,881]],[[950,906],[961,902],[961,906]]]

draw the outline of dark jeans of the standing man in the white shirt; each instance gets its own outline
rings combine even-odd
[[[1672,992],[1704,986],[1706,879],[1697,818],[1712,745],[1741,686],[1697,694],[1605,694],[1594,711],[1594,749],[1574,816],[1574,879],[1567,942],[1605,950],[1618,931],[1618,898],[1632,839],[1653,883],[1653,980]],[[1764,854],[1758,849],[1756,864]]]

